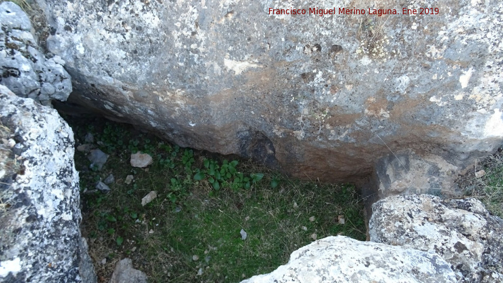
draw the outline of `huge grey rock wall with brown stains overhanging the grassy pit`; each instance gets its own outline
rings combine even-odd
[[[391,151],[428,154],[459,170],[501,145],[498,0],[413,2],[406,8],[439,12],[382,17],[369,12],[401,14],[403,7],[363,0],[37,3],[54,31],[47,47],[74,80],[73,102],[181,146],[334,181],[374,173]],[[270,13],[290,7],[306,15]],[[309,15],[316,7],[335,7],[337,15]],[[339,14],[348,7],[365,14]],[[431,181],[427,191],[443,182]]]

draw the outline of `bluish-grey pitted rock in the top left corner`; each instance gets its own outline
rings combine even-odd
[[[46,58],[31,34],[30,19],[12,2],[0,4],[0,84],[21,97],[47,104],[72,91],[60,56]]]

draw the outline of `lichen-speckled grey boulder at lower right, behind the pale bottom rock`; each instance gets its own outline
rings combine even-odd
[[[474,199],[391,196],[372,206],[370,240],[432,251],[449,262],[459,282],[503,282],[503,220]]]

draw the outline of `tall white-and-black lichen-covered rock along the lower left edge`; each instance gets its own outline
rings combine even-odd
[[[0,179],[0,281],[96,282],[80,237],[72,130],[54,109],[5,86],[0,101],[15,141],[14,167]]]

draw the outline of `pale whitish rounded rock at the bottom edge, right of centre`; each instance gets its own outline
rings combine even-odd
[[[292,253],[290,261],[241,283],[456,282],[449,264],[435,253],[348,237],[327,237]]]

